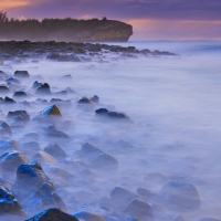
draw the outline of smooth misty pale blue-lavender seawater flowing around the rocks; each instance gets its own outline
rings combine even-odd
[[[193,185],[199,192],[201,206],[191,211],[177,211],[161,204],[164,209],[155,211],[156,221],[166,220],[166,217],[169,220],[170,213],[181,214],[188,221],[197,221],[203,217],[220,219],[221,42],[152,41],[119,45],[169,51],[178,56],[137,55],[133,59],[118,59],[106,54],[105,57],[101,55],[103,63],[42,60],[40,63],[12,63],[11,69],[1,69],[10,74],[17,70],[29,71],[33,78],[27,80],[21,87],[27,92],[31,92],[34,80],[48,82],[53,92],[73,88],[73,94],[59,96],[71,99],[72,107],[61,107],[61,112],[63,118],[72,120],[73,125],[56,125],[72,140],[57,144],[70,157],[76,158],[76,151],[88,141],[110,154],[119,164],[117,171],[93,171],[94,178],[91,181],[76,171],[76,183],[63,189],[78,201],[65,202],[63,190],[57,190],[69,206],[69,212],[81,210],[85,203],[101,203],[102,198],[109,198],[109,192],[115,187],[123,187],[135,193],[137,188],[159,193],[171,180]],[[61,78],[67,74],[72,78]],[[128,115],[136,126],[125,128],[117,123],[112,125],[97,122],[95,109],[77,107],[76,103],[83,96],[94,95],[99,96],[99,103],[107,105],[108,109]],[[35,98],[32,96],[28,101]],[[52,97],[41,98],[50,101]],[[33,118],[48,106],[50,105],[27,107],[27,110]],[[10,107],[10,110],[18,107]],[[2,107],[4,114],[8,110],[8,107]],[[13,139],[22,143],[25,133],[39,131],[41,126],[43,125],[31,125],[15,130]],[[119,152],[119,139],[138,150]],[[42,149],[50,143],[45,137],[39,140]],[[70,168],[66,169],[71,171]],[[14,176],[15,172],[11,175],[12,181]],[[150,203],[160,204],[160,201]],[[88,208],[95,213],[104,213],[95,206]]]

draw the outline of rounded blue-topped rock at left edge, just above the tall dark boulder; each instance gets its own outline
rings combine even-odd
[[[28,164],[27,157],[20,151],[8,151],[0,156],[1,168],[17,171],[22,164]]]

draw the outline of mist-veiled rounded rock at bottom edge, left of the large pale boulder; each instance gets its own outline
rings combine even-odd
[[[151,207],[140,199],[133,199],[127,206],[127,208],[124,210],[124,212],[126,214],[143,219],[145,221],[155,220]]]

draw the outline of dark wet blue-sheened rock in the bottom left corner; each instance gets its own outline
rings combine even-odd
[[[27,213],[14,197],[14,194],[3,185],[0,185],[0,215],[4,215],[6,220],[20,220],[20,215],[25,218]],[[10,217],[12,215],[12,217]],[[15,219],[17,217],[17,219]]]

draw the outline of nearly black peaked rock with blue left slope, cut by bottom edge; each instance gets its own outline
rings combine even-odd
[[[61,211],[60,209],[50,208],[25,221],[78,221],[78,219]]]

